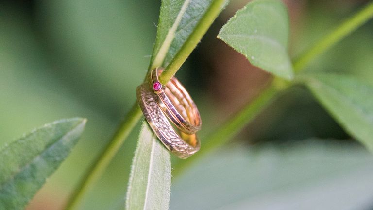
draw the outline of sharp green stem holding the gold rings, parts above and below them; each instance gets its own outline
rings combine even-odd
[[[186,58],[197,46],[214,19],[216,19],[216,17],[219,15],[225,1],[226,0],[215,0],[211,3],[210,7],[207,9],[207,12],[203,15],[200,22],[197,24],[196,29],[188,37],[186,43],[184,43],[180,51],[175,55],[169,66],[167,66],[160,75],[160,80],[163,84],[166,84],[176,73],[176,71],[180,69],[180,66],[185,62]],[[108,145],[102,151],[101,155],[96,159],[96,161],[94,161],[92,167],[88,169],[88,171],[84,175],[84,178],[79,183],[75,191],[72,193],[72,196],[68,201],[68,205],[66,208],[67,210],[78,209],[78,207],[82,204],[85,194],[101,177],[105,168],[118,152],[120,146],[133,130],[136,123],[140,120],[141,116],[141,110],[136,103],[119,126],[114,138],[108,143]]]

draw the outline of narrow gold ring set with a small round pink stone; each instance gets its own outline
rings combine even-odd
[[[162,86],[158,80],[162,71],[154,69],[150,76],[153,90],[159,96],[159,106],[182,132],[193,134],[201,130],[202,121],[197,105],[176,77],[172,77],[166,87]]]

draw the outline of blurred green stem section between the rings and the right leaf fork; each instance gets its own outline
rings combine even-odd
[[[276,82],[267,87],[261,94],[252,102],[243,107],[233,118],[228,120],[214,130],[210,135],[203,139],[203,147],[197,155],[189,157],[186,160],[178,162],[175,169],[172,171],[172,176],[176,177],[184,171],[195,160],[204,157],[206,154],[220,148],[234,137],[242,128],[250,123],[259,113],[267,108],[273,100],[279,95],[282,89],[288,86],[276,87]]]

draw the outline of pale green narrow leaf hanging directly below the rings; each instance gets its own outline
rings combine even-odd
[[[170,153],[144,122],[132,162],[126,210],[167,210],[170,187]]]

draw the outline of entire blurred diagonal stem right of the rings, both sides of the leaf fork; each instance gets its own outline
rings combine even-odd
[[[359,26],[373,17],[373,2],[369,3],[365,8],[356,13],[352,18],[346,20],[339,25],[335,31],[327,35],[321,41],[317,42],[312,48],[306,51],[299,59],[293,62],[294,70],[299,72],[319,54],[324,53],[334,44],[342,40],[345,36],[351,34]],[[292,83],[293,84],[293,83]],[[184,161],[178,162],[175,169],[172,171],[173,177],[179,175],[185,168],[195,159],[201,158],[207,153],[218,149],[240,131],[246,124],[250,123],[265,107],[271,104],[279,90],[286,89],[292,85],[286,81],[275,79],[269,88],[267,88],[255,101],[247,104],[243,110],[239,111],[230,121],[223,123],[215,132],[209,135],[204,141],[198,155],[189,157]]]

